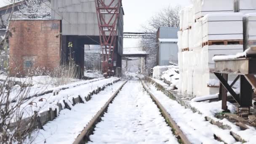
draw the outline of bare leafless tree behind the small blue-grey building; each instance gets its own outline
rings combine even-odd
[[[144,32],[151,34],[150,39],[142,39],[141,43],[144,51],[147,51],[146,74],[157,64],[157,29],[159,27],[179,27],[179,11],[181,7],[167,7],[157,13],[142,26]]]

